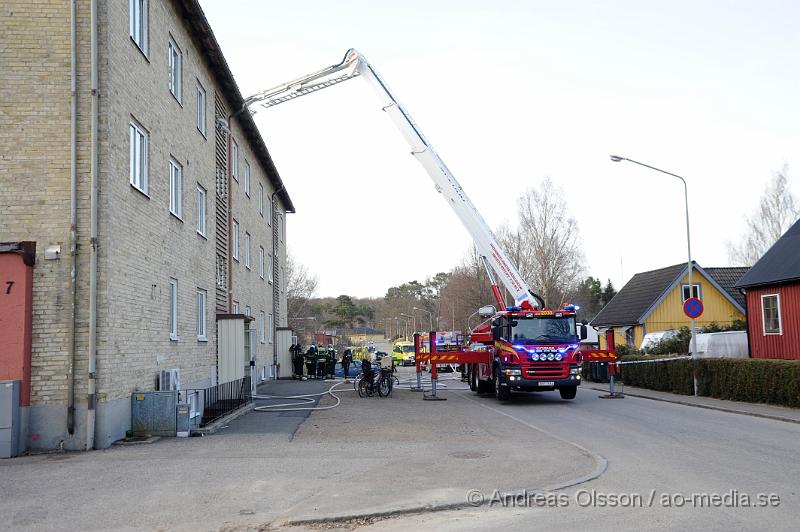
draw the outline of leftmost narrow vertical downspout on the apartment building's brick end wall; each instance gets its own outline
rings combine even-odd
[[[70,255],[70,321],[69,369],[67,374],[67,432],[75,434],[75,320],[77,309],[78,267],[78,66],[77,66],[77,0],[70,2],[70,145],[69,145],[69,255]]]

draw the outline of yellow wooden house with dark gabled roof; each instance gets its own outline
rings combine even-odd
[[[607,349],[603,333],[608,329],[614,330],[616,345],[639,349],[647,333],[689,327],[683,302],[691,296],[704,306],[698,328],[744,320],[744,296],[734,285],[748,268],[704,269],[693,264],[691,291],[686,263],[634,275],[591,322],[601,333],[600,348]]]

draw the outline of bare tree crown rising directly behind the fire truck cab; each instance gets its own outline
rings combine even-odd
[[[516,229],[498,232],[503,246],[548,306],[563,305],[584,270],[578,223],[568,213],[563,190],[549,177],[526,190],[518,205]]]

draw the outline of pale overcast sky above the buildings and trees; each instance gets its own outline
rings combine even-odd
[[[800,188],[797,2],[201,4],[245,96],[359,50],[492,227],[552,177],[586,274],[618,288],[686,260],[683,188],[609,154],[686,178],[701,266],[728,265],[772,172]],[[364,81],[256,109],[318,295],[384,295],[462,258],[469,235]]]

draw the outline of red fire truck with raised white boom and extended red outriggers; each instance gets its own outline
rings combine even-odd
[[[363,55],[350,49],[338,64],[323,68],[301,78],[253,94],[244,100],[238,112],[249,112],[254,105],[265,108],[306,96],[357,77],[365,79],[374,89],[381,108],[392,119],[397,129],[411,147],[411,154],[433,180],[436,191],[456,213],[475,242],[478,255],[492,285],[498,309],[491,306],[480,309],[481,317],[491,318],[476,328],[469,336],[469,347],[457,352],[437,353],[436,332],[431,331],[429,348],[424,348],[421,336],[415,334],[417,389],[421,391],[420,372],[423,360],[431,364],[431,390],[436,397],[437,365],[463,364],[467,368],[470,388],[478,393],[493,391],[505,400],[515,391],[559,390],[565,399],[575,397],[580,384],[580,365],[583,360],[613,361],[611,350],[582,350],[576,342],[585,338],[585,330],[576,332],[576,308],[547,310],[544,300],[535,294],[509,260],[489,225],[470,201],[464,189],[444,164],[417,124],[400,104],[386,82]],[[513,306],[506,306],[499,282],[514,298]],[[530,335],[533,324],[540,330],[558,329],[572,323],[569,338],[541,340],[538,337],[518,341],[515,333]],[[585,327],[585,322],[581,327]],[[613,334],[608,337],[613,342]],[[613,344],[609,344],[613,345]]]

